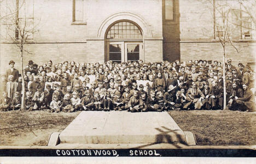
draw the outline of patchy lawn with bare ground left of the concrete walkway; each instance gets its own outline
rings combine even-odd
[[[0,112],[0,145],[47,145],[50,134],[64,130],[79,113]]]

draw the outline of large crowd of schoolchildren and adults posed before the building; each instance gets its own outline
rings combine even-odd
[[[21,108],[22,78],[10,61],[2,75],[0,111]],[[75,63],[38,66],[29,61],[24,70],[25,110],[75,112],[78,110],[223,109],[223,68],[219,61],[143,61]],[[254,72],[228,60],[226,99],[230,110],[254,111]]]

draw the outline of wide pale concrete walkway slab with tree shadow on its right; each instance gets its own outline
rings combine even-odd
[[[61,144],[195,143],[167,112],[84,111],[59,137]]]

